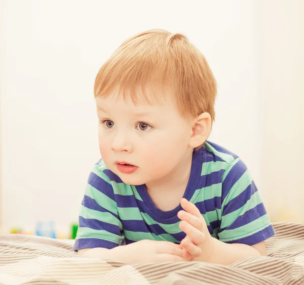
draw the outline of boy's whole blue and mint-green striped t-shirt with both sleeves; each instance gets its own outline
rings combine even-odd
[[[194,151],[185,193],[213,237],[254,245],[275,234],[257,188],[239,157],[207,141]],[[74,250],[111,249],[140,240],[179,244],[185,237],[177,217],[182,208],[162,211],[145,185],[128,185],[99,160],[85,190]]]

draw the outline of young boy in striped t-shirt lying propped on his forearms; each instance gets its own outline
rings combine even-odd
[[[102,159],[81,205],[79,255],[220,264],[265,255],[274,229],[245,164],[207,141],[216,82],[185,36],[131,37],[94,94]]]

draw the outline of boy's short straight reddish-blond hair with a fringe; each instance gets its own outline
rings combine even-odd
[[[152,99],[160,101],[170,88],[182,116],[208,112],[212,122],[215,118],[215,78],[202,53],[180,33],[148,30],[123,42],[100,68],[94,96],[106,97],[116,88],[124,97],[128,92],[134,104],[151,103],[146,89],[155,90]]]

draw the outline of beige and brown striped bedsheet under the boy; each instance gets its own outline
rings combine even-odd
[[[304,284],[304,225],[273,223],[268,256],[230,266],[203,262],[124,265],[82,258],[67,241],[0,235],[0,284]]]

